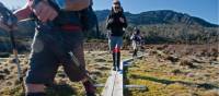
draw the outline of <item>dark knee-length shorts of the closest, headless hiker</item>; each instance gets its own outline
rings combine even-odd
[[[49,39],[48,39],[49,38]],[[50,43],[45,43],[45,39],[53,39]],[[67,32],[62,29],[38,28],[32,44],[30,56],[30,70],[26,75],[26,84],[51,84],[54,83],[57,70],[61,64],[59,57],[51,50],[54,44],[61,44],[65,50],[70,50],[80,63],[80,68],[85,70],[83,55],[83,33]],[[84,75],[76,73],[73,70],[65,70],[67,76],[72,82],[78,82]]]

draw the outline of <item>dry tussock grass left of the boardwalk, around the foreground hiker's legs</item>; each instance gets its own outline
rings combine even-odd
[[[97,84],[105,84],[108,72],[112,67],[111,56],[106,51],[85,51],[85,62],[87,69],[90,72],[91,77]],[[22,58],[22,70],[27,69],[26,60],[27,58]],[[7,70],[4,70],[7,69]],[[23,96],[22,87],[19,83],[15,83],[16,80],[16,68],[14,64],[11,64],[11,59],[5,60],[0,65],[3,74],[9,72],[8,75],[4,75],[8,80],[0,80],[0,96]],[[0,73],[1,74],[1,73]],[[11,83],[10,86],[5,86],[7,83]],[[103,87],[97,87],[97,93],[101,94]],[[84,96],[85,92],[82,86],[82,83],[70,82],[65,75],[62,68],[58,70],[58,73],[55,79],[55,84],[46,88],[48,96]]]

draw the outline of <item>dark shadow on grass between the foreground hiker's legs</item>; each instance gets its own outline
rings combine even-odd
[[[68,84],[51,85],[47,87],[47,96],[76,96],[77,92]]]

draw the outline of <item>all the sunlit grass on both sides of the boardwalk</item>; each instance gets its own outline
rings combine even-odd
[[[155,46],[149,46],[155,49]],[[180,49],[181,47],[178,47]],[[169,49],[171,51],[171,49]],[[175,48],[174,50],[177,50]],[[151,49],[151,51],[154,51]],[[160,50],[163,51],[163,50]],[[150,51],[149,51],[150,52]],[[197,68],[191,69],[181,65],[180,62],[186,56],[180,55],[180,60],[171,62],[165,60],[165,53],[149,55],[135,60],[129,68],[125,68],[124,83],[131,85],[145,85],[146,89],[125,88],[125,96],[219,96],[219,68],[209,63],[193,63]],[[131,57],[129,50],[122,51],[122,59]],[[208,58],[208,57],[205,57]],[[206,59],[208,60],[208,59]],[[8,69],[10,73],[4,80],[0,80],[0,96],[22,96],[22,87],[18,83],[16,67],[11,64],[11,58],[0,64],[1,71]],[[27,58],[22,58],[22,69],[27,69]],[[112,56],[107,51],[85,51],[87,69],[92,79],[99,84],[105,84],[112,68]],[[97,87],[97,95],[103,87]],[[48,87],[49,96],[84,96],[85,92],[81,83],[70,82],[62,69],[56,76],[56,84]]]

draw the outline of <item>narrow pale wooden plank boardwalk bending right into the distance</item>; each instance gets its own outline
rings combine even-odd
[[[139,56],[137,58],[143,57]],[[106,81],[106,84],[104,86],[104,89],[102,92],[102,96],[124,96],[124,76],[123,76],[123,68],[125,64],[128,64],[128,62],[132,61],[134,59],[127,59],[120,62],[120,71],[111,71],[110,76]]]

